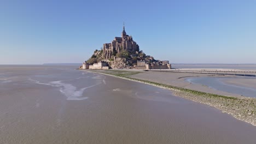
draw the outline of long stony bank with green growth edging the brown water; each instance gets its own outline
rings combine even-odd
[[[108,76],[114,76],[125,80],[136,81],[152,85],[155,87],[165,88],[171,90],[172,94],[192,100],[196,103],[206,104],[212,106],[224,113],[228,113],[232,117],[250,123],[256,126],[256,98],[242,97],[240,95],[232,95],[232,97],[222,94],[213,94],[207,92],[201,92],[198,90],[167,85],[162,82],[155,82],[145,79],[138,79],[138,75],[144,74],[142,71],[125,71],[125,70],[82,70],[91,73],[103,74]],[[135,77],[136,76],[136,77]],[[143,77],[144,78],[144,77]],[[184,78],[183,78],[184,79]],[[158,80],[159,81],[159,80]],[[203,86],[202,86],[203,87]]]

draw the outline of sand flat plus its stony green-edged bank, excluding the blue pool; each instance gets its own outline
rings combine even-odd
[[[187,79],[187,77],[214,77],[214,75],[163,73],[155,71],[139,72],[132,70],[105,70],[101,71],[101,73],[170,89],[172,93],[178,97],[210,105],[241,121],[248,122],[256,126],[256,98],[244,97],[243,95],[236,93],[218,91],[217,89],[212,89],[205,85],[191,85],[191,82],[186,82],[184,80]],[[255,81],[253,82],[255,83]]]

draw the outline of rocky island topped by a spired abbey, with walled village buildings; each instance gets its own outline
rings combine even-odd
[[[125,32],[121,37],[115,37],[112,43],[103,44],[101,50],[95,50],[93,55],[83,63],[80,69],[171,69],[169,61],[160,61],[153,56],[147,56],[131,35]]]

